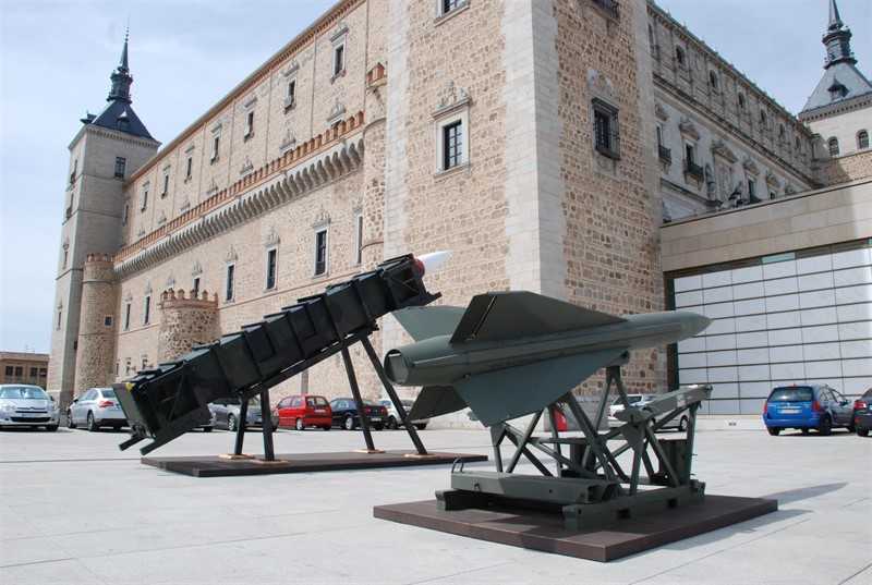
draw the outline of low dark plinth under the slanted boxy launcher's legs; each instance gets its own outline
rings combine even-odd
[[[142,458],[142,463],[168,472],[194,477],[227,477],[231,475],[270,475],[277,473],[334,472],[340,470],[372,470],[378,467],[411,467],[452,463],[458,459],[472,463],[487,461],[486,455],[463,453],[431,453],[433,456],[405,456],[413,451],[384,453],[292,453],[276,455],[275,462],[253,459],[222,459],[218,455],[182,458]]]

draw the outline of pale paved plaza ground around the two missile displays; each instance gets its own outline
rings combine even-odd
[[[701,427],[706,491],[777,498],[780,509],[610,563],[373,519],[373,505],[446,488],[447,466],[194,478],[119,452],[120,432],[3,431],[0,583],[872,583],[872,438]],[[410,447],[401,431],[374,436]],[[485,430],[422,436],[433,450],[489,452]],[[257,439],[249,435],[252,449]],[[216,454],[231,442],[226,431],[189,434],[155,454]],[[276,435],[279,453],[361,446],[359,432]]]

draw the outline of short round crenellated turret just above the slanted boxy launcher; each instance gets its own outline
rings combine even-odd
[[[218,326],[218,294],[207,291],[196,295],[191,291],[170,289],[160,295],[160,328],[158,329],[158,363],[171,362],[220,337]]]

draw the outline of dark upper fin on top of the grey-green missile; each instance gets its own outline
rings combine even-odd
[[[528,291],[492,292],[472,298],[451,343],[545,336],[625,320]]]

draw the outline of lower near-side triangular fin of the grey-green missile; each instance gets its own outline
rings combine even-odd
[[[455,387],[489,427],[545,409],[625,351],[602,350],[498,369],[457,381]]]

